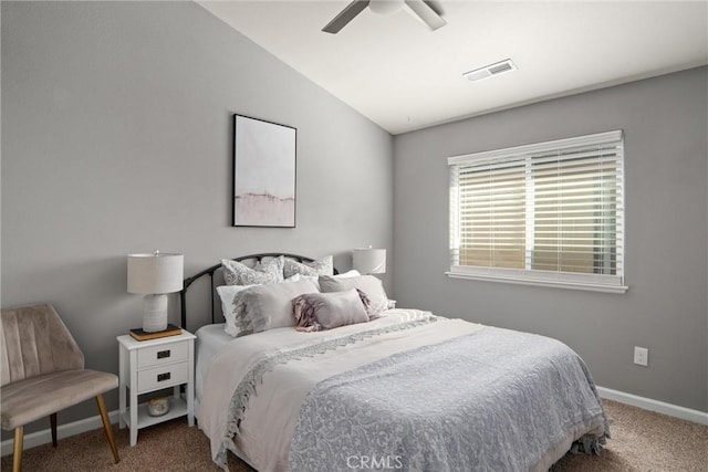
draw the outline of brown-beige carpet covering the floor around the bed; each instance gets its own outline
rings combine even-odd
[[[597,457],[566,455],[553,472],[579,471],[708,471],[708,427],[663,415],[604,402],[612,439]],[[59,447],[40,445],[24,451],[23,470],[41,471],[219,471],[211,462],[209,442],[185,419],[140,430],[137,444],[128,445],[127,430],[117,430],[121,463],[113,464],[103,430],[59,440]],[[2,458],[2,471],[10,471],[12,458]],[[251,469],[229,457],[229,469]]]

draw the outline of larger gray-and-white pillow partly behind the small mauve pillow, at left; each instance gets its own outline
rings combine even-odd
[[[239,337],[268,329],[294,326],[292,300],[305,293],[316,293],[309,280],[257,285],[233,296],[233,333]],[[361,303],[361,302],[360,302]]]

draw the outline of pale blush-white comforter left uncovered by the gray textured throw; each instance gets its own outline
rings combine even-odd
[[[319,381],[396,353],[473,333],[483,326],[438,317],[436,323],[367,337],[317,354],[316,358],[303,357],[277,365],[262,377],[262,385],[250,398],[239,432],[231,442],[228,418],[231,397],[243,376],[264,356],[427,316],[430,314],[417,310],[391,310],[373,322],[332,331],[300,333],[278,328],[233,339],[214,357],[198,411],[199,427],[211,441],[215,462],[226,469],[225,454],[230,449],[259,471],[287,471],[300,406]]]

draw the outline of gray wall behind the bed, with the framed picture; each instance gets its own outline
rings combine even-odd
[[[233,113],[298,128],[295,229],[230,227]],[[142,324],[128,253],[179,251],[191,275],[391,248],[392,155],[388,133],[192,2],[2,2],[2,306],[53,303],[90,368],[117,371],[115,337]]]

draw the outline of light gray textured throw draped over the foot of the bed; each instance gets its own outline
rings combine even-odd
[[[541,471],[573,442],[598,452],[608,432],[572,349],[489,327],[319,382],[302,403],[290,469]]]

